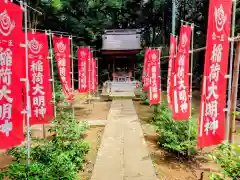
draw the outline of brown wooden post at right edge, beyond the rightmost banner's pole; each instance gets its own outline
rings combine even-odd
[[[238,34],[240,35],[240,34]],[[229,142],[232,143],[233,133],[236,132],[236,116],[233,112],[236,111],[237,106],[237,93],[238,93],[238,76],[239,76],[239,63],[240,63],[240,41],[236,42],[236,55],[234,59],[233,67],[233,79],[232,79],[232,92],[231,92],[231,108],[230,108],[230,130],[229,130]]]

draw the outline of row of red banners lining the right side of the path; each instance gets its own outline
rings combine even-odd
[[[232,1],[230,0],[210,1],[198,122],[198,148],[220,144],[225,138],[226,75],[228,72],[231,8]],[[191,34],[192,27],[183,25],[180,30],[178,47],[177,38],[173,35],[170,37],[167,99],[174,120],[189,120],[191,113],[189,83],[192,73],[189,71]],[[146,49],[142,76],[143,88],[148,90],[150,104],[159,102],[151,101],[153,91],[150,89],[152,64],[155,65],[152,55],[155,53],[155,50]],[[159,72],[157,71],[157,73]],[[160,84],[160,81],[158,83]],[[158,92],[160,93],[160,91]]]

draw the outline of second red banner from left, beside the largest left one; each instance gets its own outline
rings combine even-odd
[[[30,124],[47,124],[53,119],[52,87],[48,61],[48,37],[28,33],[28,72],[30,84]]]

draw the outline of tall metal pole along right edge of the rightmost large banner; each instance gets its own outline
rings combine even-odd
[[[232,32],[231,37],[234,37],[235,33],[235,19],[236,19],[236,0],[233,0],[233,10],[232,10]],[[229,67],[229,78],[228,78],[228,101],[227,101],[227,118],[226,118],[226,140],[231,141],[230,129],[230,111],[231,111],[231,89],[232,89],[232,69],[233,69],[233,54],[234,54],[234,41],[231,41],[231,54],[230,54],[230,67]]]

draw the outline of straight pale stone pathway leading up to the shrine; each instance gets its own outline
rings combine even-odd
[[[157,180],[132,100],[113,100],[91,180]]]

